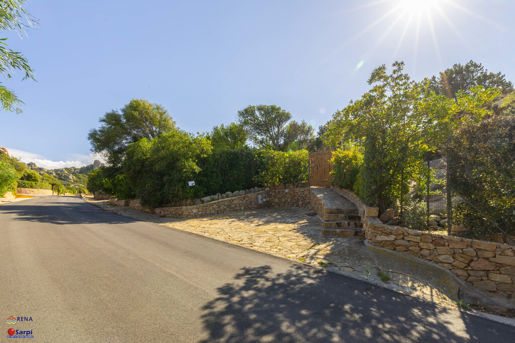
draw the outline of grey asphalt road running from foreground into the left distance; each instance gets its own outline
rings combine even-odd
[[[515,328],[72,196],[0,206],[7,330],[36,342],[508,342]],[[5,320],[5,319],[4,319]]]

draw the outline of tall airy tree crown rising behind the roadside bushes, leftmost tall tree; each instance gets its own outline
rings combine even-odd
[[[90,130],[88,140],[92,151],[104,153],[114,167],[121,167],[130,143],[175,129],[175,122],[163,106],[144,99],[133,99],[122,110],[107,112],[99,121],[102,125]]]

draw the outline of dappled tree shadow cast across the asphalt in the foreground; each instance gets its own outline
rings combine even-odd
[[[515,328],[306,266],[243,268],[205,304],[205,342],[507,341]],[[486,325],[485,325],[486,323]]]

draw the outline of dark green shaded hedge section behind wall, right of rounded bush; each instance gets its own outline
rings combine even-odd
[[[201,171],[195,178],[195,187],[203,195],[249,189],[259,186],[254,177],[262,168],[258,151],[249,147],[239,149],[213,149],[200,158]]]

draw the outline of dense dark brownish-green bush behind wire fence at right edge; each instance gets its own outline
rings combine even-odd
[[[494,223],[515,234],[515,114],[463,124],[445,146],[449,183]],[[466,203],[458,203],[454,222],[467,234],[484,238],[496,229]]]

